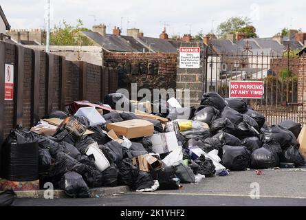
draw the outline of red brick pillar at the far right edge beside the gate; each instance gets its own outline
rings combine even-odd
[[[298,62],[298,103],[306,107],[306,55],[300,56]]]

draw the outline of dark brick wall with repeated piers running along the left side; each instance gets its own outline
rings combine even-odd
[[[14,65],[15,82],[14,100],[4,100],[4,94],[0,97],[0,110],[3,112],[3,115],[0,115],[0,142],[17,124],[30,129],[33,122],[50,113],[47,107],[50,107],[51,111],[64,110],[61,107],[61,100],[65,105],[75,100],[100,102],[109,91],[117,90],[118,72],[115,69],[88,63],[85,65],[86,68],[80,68],[83,62],[65,61],[61,56],[35,52],[4,42],[0,42],[0,48],[0,53],[4,54],[0,56],[0,66],[3,67],[0,69],[0,83],[4,85],[5,64]],[[49,67],[49,63],[53,65],[50,64]],[[65,65],[64,68],[62,65]],[[50,72],[52,77],[49,81],[47,76]],[[83,82],[80,81],[82,79],[80,76],[86,76]],[[17,83],[22,78],[23,82]],[[63,79],[65,80],[62,82]],[[63,91],[61,91],[62,83]],[[50,94],[47,92],[47,85],[52,88]],[[34,93],[35,87],[37,87],[36,93]],[[3,87],[2,89],[4,91]],[[80,93],[83,90],[85,93]],[[34,98],[35,96],[37,98]]]

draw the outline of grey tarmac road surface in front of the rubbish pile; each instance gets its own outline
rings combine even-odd
[[[15,206],[306,206],[306,168],[232,172],[179,190],[108,193],[90,199],[26,199]],[[251,199],[251,184],[259,199]],[[257,194],[256,194],[257,195]]]

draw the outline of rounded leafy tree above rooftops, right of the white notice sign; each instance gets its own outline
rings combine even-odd
[[[226,34],[237,33],[241,28],[250,25],[250,19],[248,17],[230,17],[227,21],[220,23],[217,28],[217,34],[219,37],[225,39]]]

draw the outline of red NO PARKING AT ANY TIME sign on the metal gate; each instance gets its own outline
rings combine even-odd
[[[230,81],[230,98],[263,98],[263,81]]]

